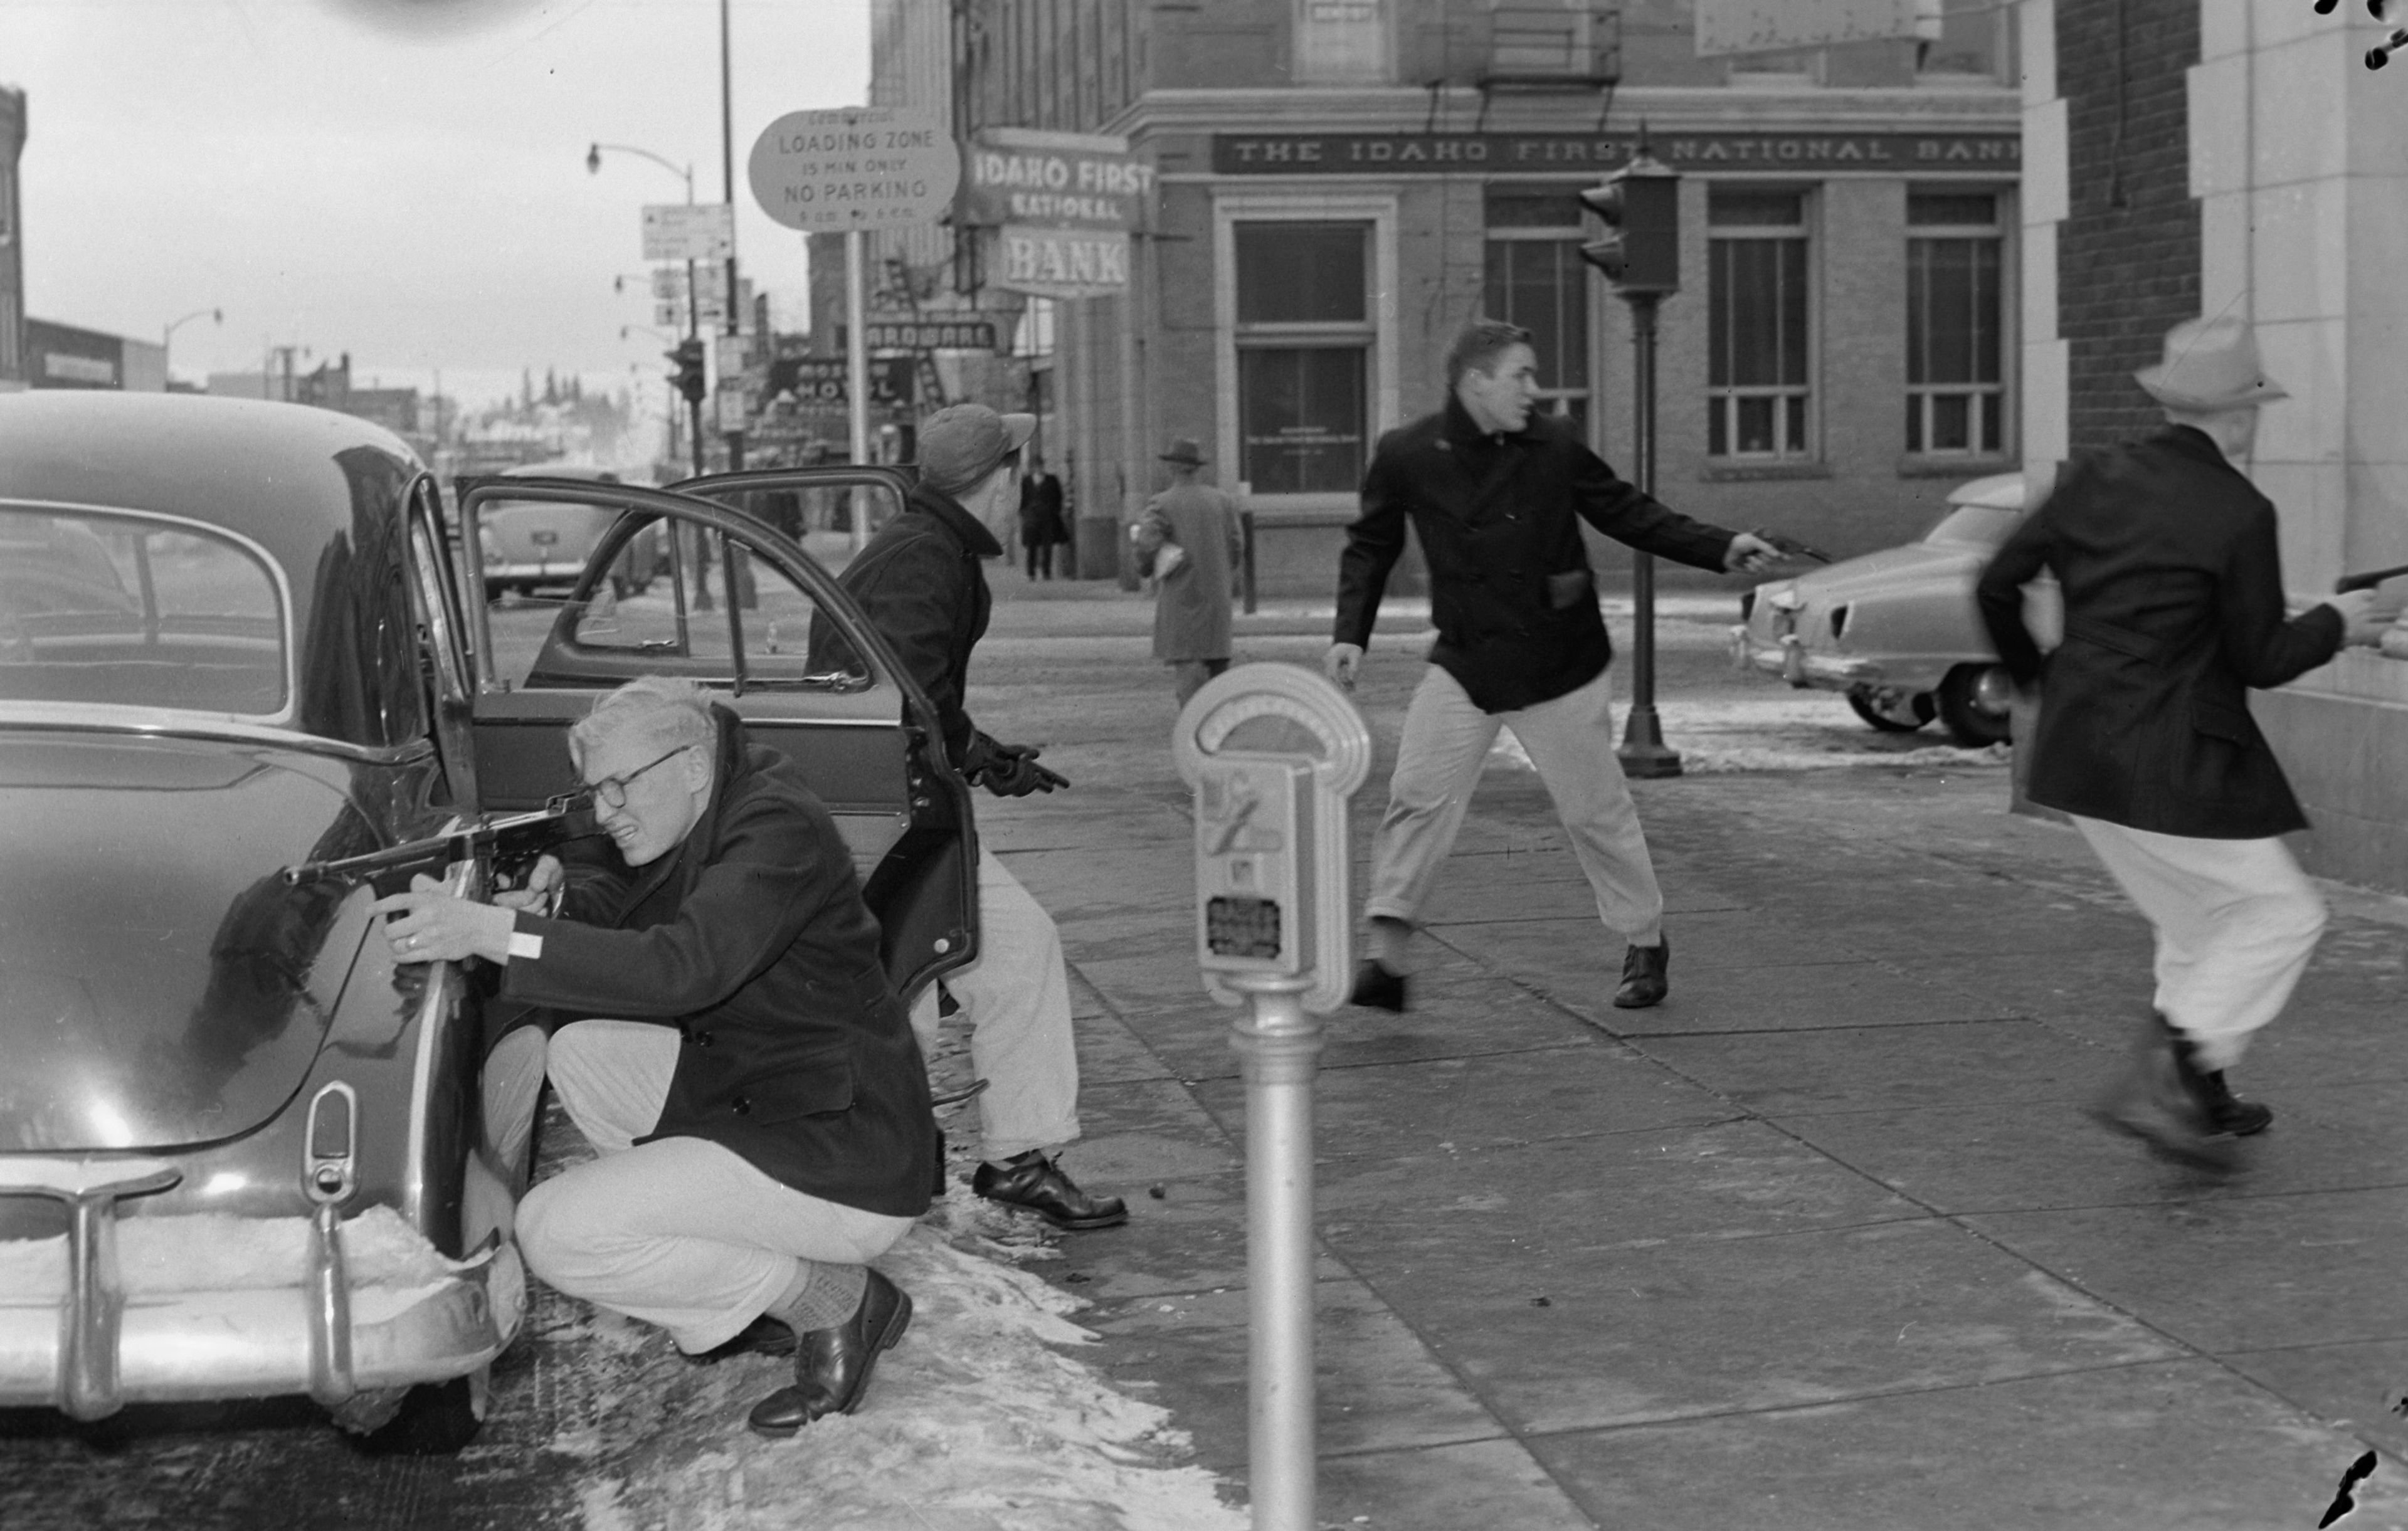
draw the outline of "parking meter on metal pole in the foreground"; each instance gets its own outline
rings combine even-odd
[[[1247,1483],[1255,1531],[1315,1531],[1312,1076],[1346,1004],[1346,799],[1370,729],[1296,664],[1240,664],[1170,741],[1197,794],[1197,963],[1245,1071]]]

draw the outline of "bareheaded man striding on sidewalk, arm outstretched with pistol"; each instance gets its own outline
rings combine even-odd
[[[1613,645],[1580,525],[1695,568],[1760,571],[1780,554],[1618,479],[1570,421],[1536,414],[1536,371],[1529,330],[1466,325],[1447,351],[1445,409],[1380,438],[1363,510],[1346,527],[1329,679],[1353,691],[1406,525],[1430,568],[1438,626],[1373,835],[1370,956],[1356,973],[1356,1004],[1406,1009],[1413,922],[1500,727],[1529,751],[1597,915],[1625,944],[1613,1004],[1662,1004],[1671,985],[1664,893],[1613,756]]]

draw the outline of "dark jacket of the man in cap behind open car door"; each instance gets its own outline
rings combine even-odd
[[[970,746],[970,715],[961,691],[970,650],[987,633],[987,571],[980,558],[1002,556],[987,527],[951,496],[925,484],[913,489],[903,515],[879,527],[869,546],[845,566],[843,585],[860,602],[886,643],[896,648],[944,729],[944,753],[961,766]],[[811,664],[860,672],[852,648],[826,619],[811,621]]]

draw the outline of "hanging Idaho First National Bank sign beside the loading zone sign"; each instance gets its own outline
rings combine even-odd
[[[995,229],[987,282],[1040,298],[1127,291],[1129,231],[1153,200],[1129,140],[982,128],[963,159],[966,221]]]

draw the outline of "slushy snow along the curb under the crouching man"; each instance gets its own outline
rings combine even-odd
[[[968,1076],[966,1052],[949,1025],[939,1086]],[[1086,1302],[1019,1269],[1060,1259],[1060,1235],[970,1194],[970,1115],[942,1112],[946,1199],[874,1261],[913,1319],[855,1415],[756,1437],[744,1413],[792,1379],[790,1360],[706,1367],[660,1331],[554,1305],[566,1319],[537,1343],[607,1372],[592,1379],[600,1406],[551,1440],[585,1478],[585,1531],[1245,1531],[1218,1480],[1187,1464],[1170,1413],[1079,1362],[1096,1336],[1069,1314]]]

